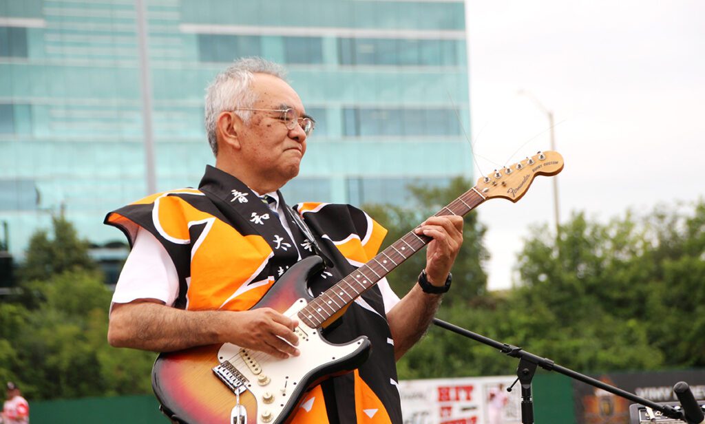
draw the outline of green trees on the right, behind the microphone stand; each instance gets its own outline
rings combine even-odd
[[[466,242],[482,246],[482,232],[477,237]],[[459,260],[482,263],[482,249],[471,252]],[[690,214],[659,206],[608,223],[575,213],[560,237],[548,225],[532,229],[517,257],[519,287],[464,292],[462,301],[444,301],[439,318],[583,373],[702,367],[704,259],[702,201]],[[398,372],[400,378],[510,374],[516,363],[432,327]]]

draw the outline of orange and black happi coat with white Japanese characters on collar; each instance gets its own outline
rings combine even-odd
[[[283,202],[281,193],[279,198]],[[293,213],[305,220],[333,262],[309,280],[314,296],[353,272],[353,264],[374,257],[386,234],[350,205],[303,203]],[[293,239],[257,194],[232,175],[208,166],[198,189],[153,194],[108,213],[105,223],[123,230],[130,245],[139,227],[157,237],[178,273],[174,306],[243,311],[277,283],[299,254],[302,258],[314,254],[287,215]],[[339,321],[325,330],[326,339],[343,343],[365,335],[372,342],[372,354],[354,373],[312,389],[293,423],[401,423],[394,346],[379,289],[364,292]]]

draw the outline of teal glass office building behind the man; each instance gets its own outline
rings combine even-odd
[[[472,173],[462,0],[0,0],[11,253],[61,211],[95,244],[122,239],[103,217],[149,175],[196,186],[214,163],[204,88],[240,56],[283,63],[317,120],[290,203],[403,204],[412,182]]]

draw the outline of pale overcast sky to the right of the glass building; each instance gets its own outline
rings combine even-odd
[[[704,196],[705,1],[467,0],[466,13],[477,177],[550,149],[546,113],[523,89],[555,116],[561,220]],[[511,287],[529,227],[554,225],[551,181],[478,211],[489,287]]]

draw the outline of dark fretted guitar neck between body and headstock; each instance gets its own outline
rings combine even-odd
[[[485,201],[485,197],[480,194],[476,187],[473,187],[460,195],[458,199],[443,206],[434,216],[465,216],[479,204],[482,204],[483,201]],[[376,285],[379,280],[431,242],[431,237],[417,235],[414,230],[407,232],[404,237],[398,239],[363,266],[357,268],[355,272],[350,273],[347,277],[337,282],[336,285],[333,285],[333,287],[321,293],[319,297],[309,302],[307,306],[299,311],[298,317],[300,320],[311,328],[320,327],[331,317],[336,316],[336,314],[352,304],[360,294]]]

